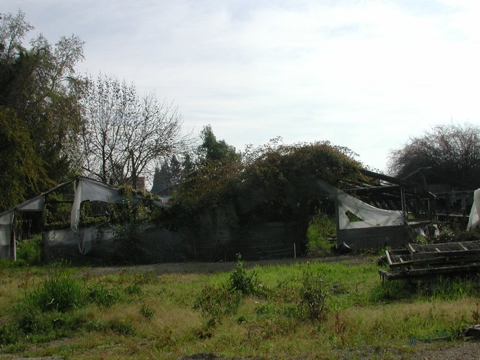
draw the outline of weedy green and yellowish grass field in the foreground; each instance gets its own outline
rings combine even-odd
[[[409,359],[418,344],[466,341],[480,322],[479,278],[383,283],[376,261],[321,258],[230,271],[145,267],[0,268],[6,358]],[[201,264],[199,266],[202,266]],[[205,264],[205,266],[209,266]],[[108,269],[107,269],[108,270]],[[357,352],[355,352],[357,354]]]

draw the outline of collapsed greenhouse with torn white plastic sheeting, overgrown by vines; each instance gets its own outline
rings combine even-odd
[[[370,174],[371,175],[371,174]],[[392,180],[388,178],[387,180]],[[82,224],[81,206],[85,202],[105,202],[119,204],[126,196],[119,188],[110,187],[88,178],[77,178],[58,185],[43,194],[27,200],[19,206],[0,214],[0,255],[1,259],[16,258],[16,213],[41,213],[45,209],[45,198],[54,191],[73,186],[73,201],[70,210],[70,226],[42,229],[43,252],[47,260],[54,259],[97,259],[106,261],[121,254],[127,260],[131,255],[128,248],[122,248],[119,227]],[[304,189],[303,189],[304,190]],[[407,189],[403,184],[387,184],[382,187],[359,187],[350,189],[349,195],[322,180],[309,186],[312,197],[328,200],[335,205],[337,224],[337,247],[348,246],[353,251],[363,248],[399,246],[408,243],[415,232],[422,232],[430,224],[428,202],[433,198],[429,193],[418,189]],[[370,193],[365,198],[372,204],[359,199],[359,194]],[[372,195],[373,194],[373,195]],[[409,196],[410,195],[410,196]],[[413,200],[412,200],[413,199]],[[132,197],[135,206],[139,196]],[[244,224],[241,215],[251,211],[256,202],[262,202],[261,195],[237,194],[230,203],[219,206],[190,219],[176,228],[166,228],[160,224],[144,224],[139,245],[145,261],[219,261],[235,259],[241,253],[245,259],[278,258],[302,254],[304,238],[309,219],[302,221],[263,221]],[[397,202],[396,205],[392,205]],[[390,206],[388,205],[390,203]],[[169,205],[160,201],[152,204],[169,211]],[[300,206],[300,204],[297,204]],[[383,208],[380,208],[382,206]],[[389,209],[389,207],[391,209]],[[396,207],[396,209],[395,209]],[[394,208],[394,209],[392,209]],[[424,221],[408,221],[407,213],[424,212]],[[423,210],[421,210],[423,209]],[[197,228],[191,229],[195,223]],[[412,235],[413,234],[413,235]]]

